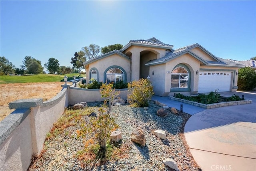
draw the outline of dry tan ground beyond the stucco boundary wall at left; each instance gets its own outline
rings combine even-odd
[[[15,109],[9,109],[9,103],[18,99],[42,98],[50,100],[57,95],[63,82],[0,84],[0,121]]]

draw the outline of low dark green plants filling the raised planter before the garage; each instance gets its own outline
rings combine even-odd
[[[185,99],[189,101],[195,101],[198,103],[203,103],[203,104],[212,104],[212,103],[218,103],[221,101],[238,101],[242,100],[238,95],[232,95],[231,97],[225,98],[221,97],[219,93],[211,91],[208,95],[206,94],[198,94],[196,96],[185,96],[183,94],[175,94],[174,97],[179,98],[179,99]]]

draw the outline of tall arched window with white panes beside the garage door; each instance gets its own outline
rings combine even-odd
[[[188,71],[177,67],[172,71],[171,88],[188,88]]]

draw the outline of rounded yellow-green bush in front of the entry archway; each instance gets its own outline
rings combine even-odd
[[[142,78],[128,83],[127,100],[129,103],[134,103],[137,107],[146,107],[152,95],[154,95],[153,86],[149,80]]]

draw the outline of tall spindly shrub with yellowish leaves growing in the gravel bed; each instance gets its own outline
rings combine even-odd
[[[100,87],[100,94],[105,98],[103,107],[99,109],[99,116],[90,120],[90,127],[83,125],[82,129],[78,131],[78,137],[85,137],[87,133],[95,133],[95,138],[100,145],[102,151],[101,158],[105,158],[107,139],[110,138],[111,131],[116,129],[118,125],[114,122],[114,118],[110,117],[110,112],[114,101],[120,94],[119,91],[112,89],[113,84],[102,84]]]

